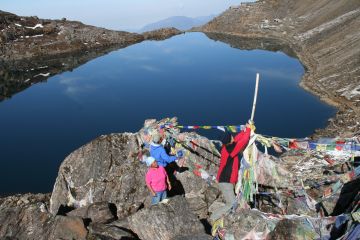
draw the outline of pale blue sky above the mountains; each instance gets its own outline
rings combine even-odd
[[[208,16],[251,0],[0,0],[0,10],[117,30],[139,29],[171,16]]]

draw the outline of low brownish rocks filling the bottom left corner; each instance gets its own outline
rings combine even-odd
[[[1,239],[86,239],[80,217],[53,216],[49,195],[24,194],[0,199]]]

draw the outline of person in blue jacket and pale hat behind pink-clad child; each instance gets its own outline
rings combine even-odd
[[[158,165],[162,167],[166,167],[169,163],[175,162],[178,159],[176,156],[170,156],[166,153],[165,148],[161,145],[161,138],[158,134],[152,137],[150,155],[155,158]]]

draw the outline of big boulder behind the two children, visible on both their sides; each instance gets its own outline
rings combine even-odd
[[[117,217],[125,218],[149,205],[150,194],[145,184],[147,167],[141,159],[148,155],[149,132],[159,131],[165,122],[175,120],[147,120],[138,133],[101,136],[71,153],[61,164],[50,199],[50,212],[56,215],[61,206],[81,208],[95,202],[113,203]],[[218,190],[211,187],[216,173],[218,152],[206,138],[195,133],[174,131],[171,138],[181,141],[175,151],[185,153],[185,163],[171,177],[176,184],[169,196],[185,195],[191,209],[201,218],[207,215],[208,206],[215,201]],[[184,140],[185,139],[185,140]],[[192,139],[190,143],[189,140]],[[203,179],[199,176],[207,176]],[[209,202],[210,201],[210,202]],[[86,210],[78,210],[84,217]]]

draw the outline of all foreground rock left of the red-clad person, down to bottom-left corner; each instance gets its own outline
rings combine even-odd
[[[169,121],[176,119],[146,121],[138,133],[100,136],[74,151],[59,169],[51,198],[32,194],[0,198],[0,222],[6,223],[0,226],[0,237],[209,239],[200,219],[207,218],[207,208],[219,192],[192,172],[202,167],[202,172],[215,173],[218,152],[209,150],[212,143],[206,138],[173,132],[179,141],[191,137],[196,142],[196,150],[186,153],[186,166],[198,165],[191,171],[178,170],[172,181],[180,191],[170,193],[177,196],[167,204],[149,204],[147,167],[141,160],[149,154],[145,147],[149,132]]]

